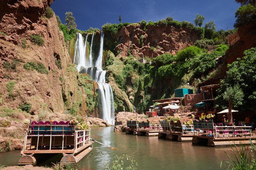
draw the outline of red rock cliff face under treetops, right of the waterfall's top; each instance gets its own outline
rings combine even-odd
[[[143,39],[142,39],[143,37]],[[156,57],[166,52],[176,54],[181,49],[193,45],[199,36],[187,27],[176,26],[147,26],[143,31],[139,24],[123,27],[115,35],[121,42],[115,48],[122,56],[132,54],[135,57]],[[155,49],[150,50],[153,46]]]

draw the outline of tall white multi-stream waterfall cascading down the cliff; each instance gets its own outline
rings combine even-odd
[[[90,54],[87,56],[86,45],[88,35],[84,42],[82,35],[80,33],[77,34],[73,63],[76,64],[76,68],[80,73],[89,74],[98,83],[99,96],[102,104],[102,119],[106,119],[110,124],[111,121],[114,121],[115,108],[112,88],[108,83],[105,83],[106,70],[102,70],[104,33],[101,32],[100,50],[98,56],[95,57],[95,62],[93,62],[92,56],[93,37],[94,33],[92,35]]]

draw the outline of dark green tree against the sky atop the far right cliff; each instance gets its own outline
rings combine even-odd
[[[256,7],[254,5],[247,5],[239,7],[235,12],[236,22],[234,28],[239,28],[244,24],[248,24],[253,21],[256,17]]]

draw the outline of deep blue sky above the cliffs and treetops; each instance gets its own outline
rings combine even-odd
[[[156,22],[166,17],[194,23],[197,14],[205,17],[203,26],[214,21],[216,29],[233,29],[235,12],[240,7],[234,0],[55,0],[51,8],[65,24],[65,13],[72,12],[77,29],[99,28],[105,23]]]

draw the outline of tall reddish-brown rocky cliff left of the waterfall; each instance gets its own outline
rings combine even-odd
[[[93,80],[79,75],[72,64],[55,15],[50,19],[43,15],[52,1],[1,3],[0,106],[29,105],[31,114],[43,109],[88,114],[89,107],[90,114],[97,116]],[[44,43],[32,42],[31,35],[38,35]]]

